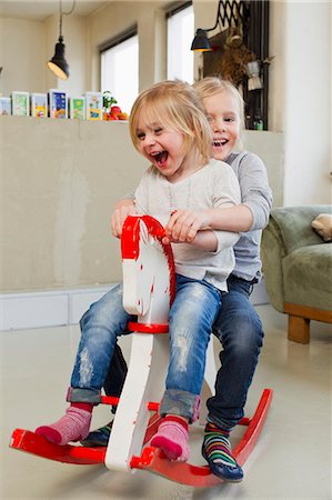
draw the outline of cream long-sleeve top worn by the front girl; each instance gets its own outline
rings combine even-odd
[[[164,226],[174,210],[233,207],[241,202],[241,193],[232,168],[211,159],[203,168],[174,183],[154,167],[149,167],[135,190],[134,200],[138,213],[152,216]],[[227,291],[227,278],[235,264],[233,246],[239,234],[229,231],[214,233],[218,239],[215,252],[189,243],[172,243],[175,271]]]

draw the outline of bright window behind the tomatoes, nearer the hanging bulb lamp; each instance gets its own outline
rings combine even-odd
[[[109,90],[123,112],[130,112],[139,93],[139,39],[127,34],[101,49],[101,91]]]

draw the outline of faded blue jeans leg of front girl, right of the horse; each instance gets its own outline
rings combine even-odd
[[[198,417],[205,353],[221,292],[202,280],[177,274],[177,296],[170,311],[170,364],[160,414]]]

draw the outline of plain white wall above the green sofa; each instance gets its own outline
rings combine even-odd
[[[284,203],[331,202],[331,2],[288,2]]]

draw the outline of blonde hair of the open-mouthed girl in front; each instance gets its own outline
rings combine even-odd
[[[187,151],[195,146],[203,160],[211,158],[211,127],[200,98],[189,83],[167,80],[139,94],[129,119],[131,140],[138,150],[140,141],[137,132],[142,111],[151,123],[183,134]]]

